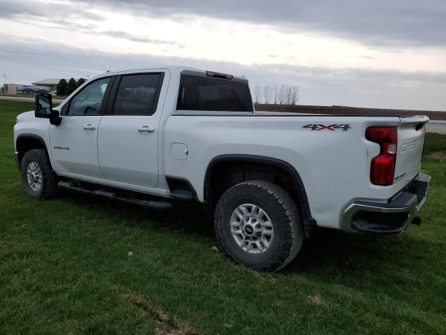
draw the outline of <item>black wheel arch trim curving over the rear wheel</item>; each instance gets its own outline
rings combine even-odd
[[[316,228],[316,220],[312,218],[312,214],[309,208],[309,202],[307,198],[307,192],[305,191],[305,186],[303,184],[302,178],[300,174],[293,165],[287,163],[286,161],[282,161],[278,158],[272,158],[268,156],[257,156],[257,155],[245,155],[245,154],[224,154],[220,156],[216,156],[213,158],[206,168],[206,173],[204,177],[203,183],[203,200],[208,202],[210,200],[210,186],[212,181],[212,172],[213,168],[215,168],[220,163],[256,163],[261,165],[269,165],[275,168],[282,169],[286,171],[293,181],[295,190],[298,193],[298,204],[300,204],[300,208],[302,209],[302,219],[305,227],[305,235],[306,237],[312,237],[314,229]]]

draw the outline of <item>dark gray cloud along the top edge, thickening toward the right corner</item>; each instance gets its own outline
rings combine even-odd
[[[380,47],[446,46],[444,0],[82,0],[137,15],[204,15],[316,31]]]

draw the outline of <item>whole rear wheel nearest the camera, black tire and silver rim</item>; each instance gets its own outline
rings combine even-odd
[[[277,271],[291,262],[305,236],[289,193],[261,180],[237,184],[222,195],[215,233],[226,257],[262,271]]]

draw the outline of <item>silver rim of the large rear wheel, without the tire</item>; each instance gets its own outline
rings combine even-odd
[[[247,253],[264,253],[274,237],[272,222],[255,204],[240,204],[230,219],[232,237]]]

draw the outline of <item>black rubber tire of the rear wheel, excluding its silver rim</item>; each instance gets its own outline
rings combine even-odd
[[[261,207],[270,218],[274,237],[263,253],[248,253],[233,237],[230,219],[241,204]],[[215,234],[224,256],[261,271],[278,271],[289,264],[300,251],[305,237],[300,211],[289,193],[261,180],[237,184],[222,195],[215,209]]]

